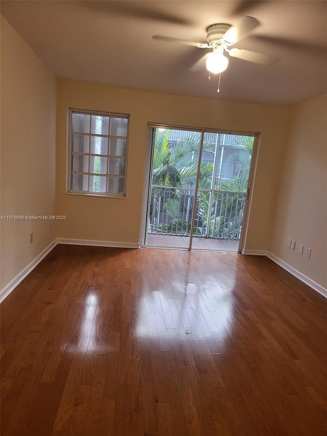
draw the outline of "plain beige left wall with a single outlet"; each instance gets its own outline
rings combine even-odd
[[[55,213],[56,82],[1,17],[1,215]],[[0,222],[2,289],[55,239],[55,228]]]

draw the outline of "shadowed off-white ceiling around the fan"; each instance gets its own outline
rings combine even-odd
[[[1,13],[59,78],[170,94],[291,105],[327,92],[327,2],[6,1]],[[229,58],[207,80],[188,68],[204,51],[151,39],[204,41],[217,22],[242,15],[260,26],[236,47],[271,54],[273,65]]]

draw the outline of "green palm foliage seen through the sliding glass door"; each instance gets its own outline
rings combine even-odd
[[[165,222],[156,223],[156,232],[163,234],[191,234],[190,217],[181,206],[186,193],[178,187],[195,187],[198,155],[199,134],[191,134],[185,141],[178,141],[174,146],[169,143],[170,130],[156,132],[152,184],[152,213],[158,217],[162,212]],[[204,162],[200,166],[199,197],[196,202],[196,221],[193,229],[195,236],[204,236],[209,227],[209,237],[235,238],[240,236],[245,192],[250,170],[251,154],[254,138],[238,136],[237,147],[232,159],[237,164],[238,176],[228,181],[216,178],[215,190],[210,202],[210,192],[201,189],[211,189],[213,162]],[[214,160],[215,144],[204,143],[203,151],[212,153]],[[161,188],[162,186],[162,188]],[[170,186],[174,188],[164,188]],[[189,194],[191,195],[191,194]],[[191,197],[190,197],[191,198]],[[159,211],[161,202],[162,210]],[[160,208],[160,209],[161,209]]]

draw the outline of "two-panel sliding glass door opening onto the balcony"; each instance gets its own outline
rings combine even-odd
[[[142,244],[238,251],[254,135],[149,128]]]

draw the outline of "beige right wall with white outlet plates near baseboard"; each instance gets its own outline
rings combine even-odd
[[[327,288],[327,96],[292,107],[271,253]],[[295,239],[295,250],[287,239]],[[312,248],[311,258],[298,245]]]

